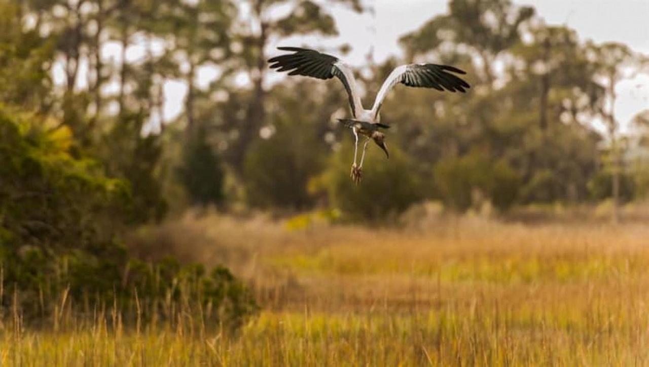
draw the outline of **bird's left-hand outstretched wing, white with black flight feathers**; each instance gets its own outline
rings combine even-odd
[[[349,95],[349,105],[352,108],[352,115],[363,109],[356,78],[352,69],[337,57],[319,53],[315,50],[301,49],[299,47],[278,47],[281,51],[294,51],[292,54],[275,56],[268,60],[271,69],[277,71],[291,71],[288,75],[306,75],[307,77],[330,79],[337,77],[343,82]]]

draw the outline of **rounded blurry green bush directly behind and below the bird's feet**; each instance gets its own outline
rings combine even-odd
[[[370,143],[363,163],[363,182],[353,185],[349,178],[350,160],[354,156],[350,140],[334,154],[324,173],[330,202],[343,215],[354,220],[389,222],[424,198],[417,167],[394,144],[390,145],[390,159],[386,160],[382,150]]]

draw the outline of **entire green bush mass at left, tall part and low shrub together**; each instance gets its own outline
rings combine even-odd
[[[42,320],[65,295],[77,310],[108,305],[129,320],[183,309],[232,326],[256,309],[225,268],[129,259],[129,185],[72,154],[73,143],[66,128],[48,132],[0,107],[1,307]]]

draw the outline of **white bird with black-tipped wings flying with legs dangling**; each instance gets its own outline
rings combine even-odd
[[[456,74],[466,74],[457,67],[437,64],[408,64],[401,65],[394,69],[381,86],[376,95],[374,105],[371,110],[365,110],[361,103],[356,78],[349,65],[342,62],[336,56],[320,53],[311,49],[302,49],[300,47],[278,47],[280,51],[291,51],[291,54],[282,54],[268,60],[271,69],[276,71],[289,71],[288,75],[304,75],[319,79],[338,78],[343,82],[349,96],[349,105],[352,109],[352,119],[338,119],[344,126],[352,130],[356,143],[354,145],[354,163],[350,176],[358,185],[363,175],[363,160],[365,159],[365,150],[370,139],[386,153],[387,151],[386,135],[381,129],[387,129],[390,126],[380,123],[381,105],[386,99],[387,93],[397,84],[405,84],[415,88],[434,88],[438,91],[460,91],[464,93],[466,89],[471,88],[469,83],[465,82]],[[361,155],[360,165],[356,165],[358,154],[358,136],[365,137],[363,145],[363,154]]]

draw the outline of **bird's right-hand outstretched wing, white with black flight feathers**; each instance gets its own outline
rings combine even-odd
[[[466,74],[457,67],[448,65],[410,64],[397,67],[390,73],[378,91],[372,107],[372,115],[376,118],[383,101],[386,99],[387,92],[399,83],[406,84],[409,87],[434,88],[438,91],[460,91],[462,93],[471,88],[469,83],[452,73]]]

